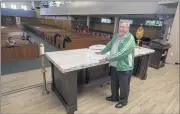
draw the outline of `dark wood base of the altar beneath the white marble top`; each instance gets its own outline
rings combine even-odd
[[[50,62],[51,63],[51,62]],[[135,58],[135,67],[133,75],[142,80],[147,78],[147,69],[149,55]],[[77,110],[77,94],[84,85],[94,80],[107,77],[110,75],[108,64],[81,69],[77,71],[61,73],[57,67],[51,63],[52,84],[51,89],[55,92],[62,102],[68,114],[74,114]]]

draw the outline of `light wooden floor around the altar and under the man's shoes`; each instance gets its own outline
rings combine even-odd
[[[34,84],[39,83],[41,77],[32,75],[29,81]],[[33,74],[35,72],[31,72]],[[40,74],[40,73],[39,73]],[[15,77],[16,76],[11,76]],[[17,76],[18,77],[18,76]],[[24,82],[28,82],[24,75]],[[37,78],[39,77],[39,78]],[[4,77],[5,78],[5,77]],[[10,78],[10,76],[9,76]],[[19,77],[20,79],[20,77]],[[2,87],[4,91],[11,90],[18,84],[12,85],[8,79],[1,79],[6,85]],[[50,78],[48,78],[50,80]],[[21,80],[22,81],[22,80]],[[7,83],[5,83],[7,82]],[[9,83],[8,83],[9,82]],[[16,81],[17,82],[17,81]],[[19,82],[20,83],[20,82]],[[33,84],[28,83],[27,85]],[[8,86],[9,85],[9,86]],[[24,84],[26,85],[26,84]],[[21,86],[24,86],[21,85]],[[26,85],[26,86],[27,86]],[[7,87],[8,86],[8,87]],[[20,87],[19,87],[20,88]],[[50,85],[48,85],[50,90]],[[2,114],[63,114],[65,109],[55,96],[53,92],[49,95],[43,95],[41,92],[43,86],[37,86],[32,89],[15,92],[11,94],[4,94],[1,97]],[[149,68],[148,79],[140,80],[136,77],[131,81],[131,92],[129,96],[129,104],[122,109],[116,109],[114,102],[108,102],[105,97],[110,95],[110,85],[104,84],[101,88],[96,87],[85,88],[82,93],[78,95],[78,111],[77,114],[88,113],[102,113],[102,114],[117,114],[117,113],[173,113],[179,114],[179,66],[166,65],[166,67],[155,70]]]

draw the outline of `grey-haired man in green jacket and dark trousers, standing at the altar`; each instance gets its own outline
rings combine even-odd
[[[110,63],[112,95],[107,97],[106,100],[119,101],[115,105],[116,108],[122,108],[128,103],[130,80],[134,66],[135,40],[133,35],[129,33],[129,26],[129,21],[120,21],[119,32],[100,52],[105,54],[110,51],[110,55],[106,59],[100,60],[100,62],[109,61]]]

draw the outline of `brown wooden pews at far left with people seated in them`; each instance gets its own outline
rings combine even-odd
[[[15,41],[8,45],[9,37]],[[28,43],[23,39],[23,31],[17,26],[1,27],[1,62],[32,59],[39,57],[39,47],[36,42]]]

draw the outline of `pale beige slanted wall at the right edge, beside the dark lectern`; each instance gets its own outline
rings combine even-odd
[[[180,3],[179,3],[180,5]],[[178,8],[176,10],[176,15],[174,17],[171,33],[169,36],[169,43],[171,43],[172,47],[169,49],[168,56],[167,56],[167,63],[175,63],[180,62],[179,61],[179,11],[180,6],[178,5]]]

